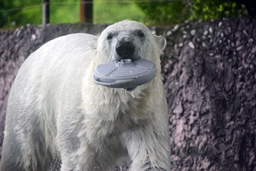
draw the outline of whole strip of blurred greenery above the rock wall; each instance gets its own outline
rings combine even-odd
[[[0,0],[0,27],[42,24],[45,0]],[[49,0],[49,22],[78,23],[82,0]],[[255,0],[92,0],[93,24],[123,19],[146,25],[169,25],[186,20],[255,16]],[[254,6],[254,7],[253,7]]]

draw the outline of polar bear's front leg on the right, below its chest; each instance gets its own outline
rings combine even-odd
[[[140,125],[123,134],[131,171],[170,171],[170,140],[164,127]]]

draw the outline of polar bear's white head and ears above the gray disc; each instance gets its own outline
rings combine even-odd
[[[127,58],[132,61],[144,58],[158,62],[166,40],[153,35],[142,23],[125,20],[108,26],[101,33],[97,44],[102,62]]]

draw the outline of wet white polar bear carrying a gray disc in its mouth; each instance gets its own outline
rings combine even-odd
[[[165,44],[144,24],[122,21],[99,37],[71,34],[42,45],[13,83],[0,170],[103,171],[125,159],[131,171],[170,171]],[[151,60],[154,79],[126,93],[93,83],[95,67],[127,57]]]

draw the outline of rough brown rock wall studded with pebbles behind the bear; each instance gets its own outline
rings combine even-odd
[[[25,58],[56,37],[99,36],[106,26],[0,30],[0,147],[8,94]],[[162,76],[172,160],[179,170],[256,170],[255,26],[256,18],[232,18],[150,27],[167,40]]]

